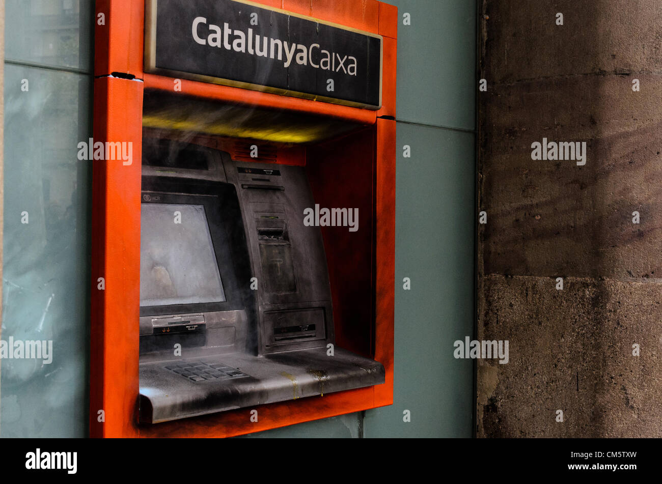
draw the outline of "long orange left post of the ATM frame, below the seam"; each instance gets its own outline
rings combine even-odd
[[[132,436],[138,396],[142,82],[95,79],[93,139],[132,143],[133,159],[130,165],[87,162],[94,163],[90,435]],[[99,288],[99,278],[105,288]]]

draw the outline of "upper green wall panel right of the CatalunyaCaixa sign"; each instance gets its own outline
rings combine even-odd
[[[391,0],[398,7],[398,120],[475,128],[476,2]],[[403,24],[404,13],[410,25]]]

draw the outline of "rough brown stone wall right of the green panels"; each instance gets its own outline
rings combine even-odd
[[[662,3],[480,10],[478,334],[510,361],[479,360],[477,434],[662,436]]]

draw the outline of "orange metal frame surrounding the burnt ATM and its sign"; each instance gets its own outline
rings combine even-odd
[[[393,403],[397,8],[376,0],[258,0],[254,3],[383,36],[383,102],[377,111],[186,79],[181,79],[181,94],[292,114],[314,114],[334,122],[340,120],[364,126],[359,134],[350,135],[343,143],[354,143],[352,153],[356,152],[363,160],[371,160],[372,246],[369,247],[371,254],[364,253],[361,257],[370,257],[371,261],[374,333],[369,345],[375,360],[385,367],[385,383],[295,402],[261,405],[258,422],[251,421],[251,409],[238,409],[150,426],[138,424],[143,93],[145,89],[172,92],[173,78],[143,71],[144,2],[97,0],[93,137],[95,141],[131,141],[134,156],[131,165],[121,161],[96,161],[93,166],[89,419],[92,437],[226,437]],[[206,140],[201,142],[214,142],[210,137]],[[217,142],[220,147],[224,141]],[[317,149],[315,154],[320,156],[334,149],[333,146],[333,143],[322,142],[319,146],[303,145],[300,149],[276,147],[280,150],[277,163],[306,163],[308,151]],[[231,154],[240,156],[236,152]],[[352,157],[343,159],[340,163],[351,168]],[[312,190],[316,197],[323,199],[330,188],[325,184],[330,179],[329,173],[324,173],[322,163],[310,169],[313,171],[312,175],[309,172]],[[352,186],[344,189],[352,190]],[[329,252],[328,244],[343,241],[328,240],[326,234],[324,239],[336,307],[340,297],[338,280],[351,279],[353,267],[345,263],[344,268],[334,273],[333,267],[338,264],[334,264],[334,252]],[[342,315],[339,319],[340,331],[336,331],[340,343]]]

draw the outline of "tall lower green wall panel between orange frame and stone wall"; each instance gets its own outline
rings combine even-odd
[[[400,124],[393,405],[365,413],[365,437],[470,437],[473,362],[473,133]],[[403,280],[409,278],[410,290]],[[410,412],[410,422],[403,412]]]

